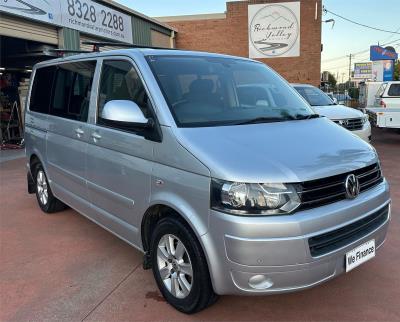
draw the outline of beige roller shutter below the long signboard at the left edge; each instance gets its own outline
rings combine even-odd
[[[0,35],[58,45],[57,27],[4,13],[0,15]]]

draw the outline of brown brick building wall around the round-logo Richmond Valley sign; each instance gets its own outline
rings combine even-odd
[[[176,47],[249,57],[248,6],[296,2],[249,0],[227,2],[221,14],[158,17],[177,30]],[[257,58],[289,82],[320,84],[321,0],[300,0],[299,55]]]

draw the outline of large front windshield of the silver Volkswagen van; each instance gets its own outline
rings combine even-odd
[[[201,56],[148,56],[180,127],[307,118],[311,108],[264,64]]]

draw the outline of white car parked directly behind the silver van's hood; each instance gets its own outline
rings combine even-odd
[[[301,96],[323,116],[358,135],[366,142],[371,141],[371,124],[368,115],[354,108],[336,104],[319,88],[308,84],[292,84]]]

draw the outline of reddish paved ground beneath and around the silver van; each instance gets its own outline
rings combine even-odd
[[[400,321],[400,134],[374,131],[392,222],[377,256],[313,289],[223,296],[187,316],[160,296],[142,255],[73,210],[45,215],[24,160],[0,164],[0,321]]]

